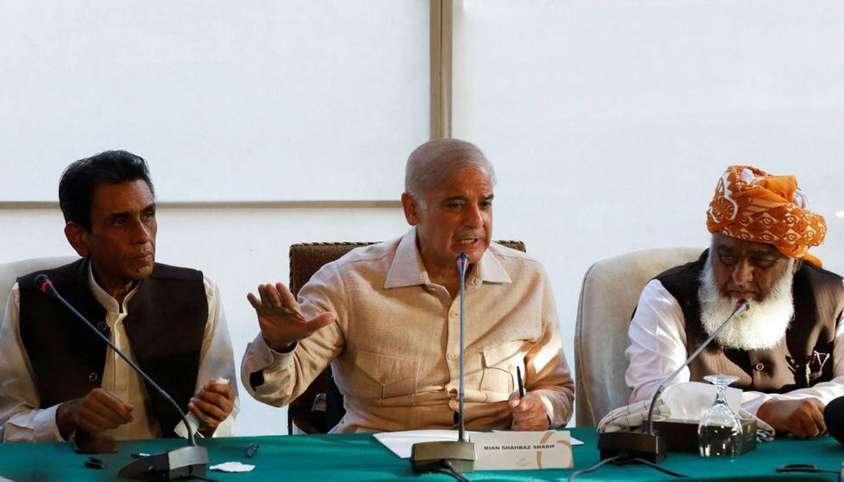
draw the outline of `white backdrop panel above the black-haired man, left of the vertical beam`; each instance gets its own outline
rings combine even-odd
[[[52,201],[68,159],[116,147],[159,159],[162,201],[386,199],[429,136],[428,16],[427,0],[3,2],[0,201]]]

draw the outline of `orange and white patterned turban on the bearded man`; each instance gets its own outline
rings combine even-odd
[[[706,228],[730,237],[773,244],[792,258],[807,257],[809,246],[824,242],[824,217],[809,211],[794,176],[772,176],[750,166],[730,166],[715,188]]]

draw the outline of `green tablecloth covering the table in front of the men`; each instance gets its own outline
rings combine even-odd
[[[575,469],[585,469],[598,463],[597,434],[592,428],[571,430],[572,436],[586,442],[574,447]],[[261,448],[253,458],[246,458],[246,447],[258,442]],[[119,452],[97,457],[108,464],[104,470],[89,469],[83,463],[88,456],[73,453],[69,443],[0,444],[0,475],[18,482],[116,480],[117,472],[131,462],[131,453],[160,452],[181,447],[175,440],[120,442]],[[392,480],[419,479],[407,460],[395,457],[371,435],[323,436],[254,436],[203,439],[208,447],[211,463],[240,461],[257,467],[245,474],[208,472],[208,477],[220,481],[239,480]],[[759,444],[758,448],[733,461],[705,459],[694,454],[668,453],[660,466],[689,475],[691,479],[734,480],[738,478],[770,480],[835,481],[835,474],[777,474],[776,467],[787,463],[814,463],[820,469],[837,470],[844,460],[844,447],[829,436],[815,440],[795,440],[790,437]],[[560,480],[567,479],[572,469],[496,471],[467,474],[472,480]],[[422,479],[450,480],[446,475],[426,474]],[[577,480],[671,480],[655,469],[645,466],[606,465]]]

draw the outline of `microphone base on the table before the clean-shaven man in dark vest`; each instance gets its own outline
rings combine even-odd
[[[211,459],[205,447],[189,446],[154,453],[128,463],[117,474],[135,480],[176,480],[191,475],[205,476]]]

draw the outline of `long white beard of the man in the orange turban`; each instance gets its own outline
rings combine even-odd
[[[794,260],[788,262],[787,270],[765,300],[754,301],[749,310],[738,313],[717,335],[715,339],[718,343],[726,348],[745,351],[773,348],[780,344],[794,314],[791,274]],[[711,335],[733,313],[735,300],[723,296],[718,289],[708,259],[699,280],[701,287],[697,297],[701,303],[701,324],[706,334]]]

